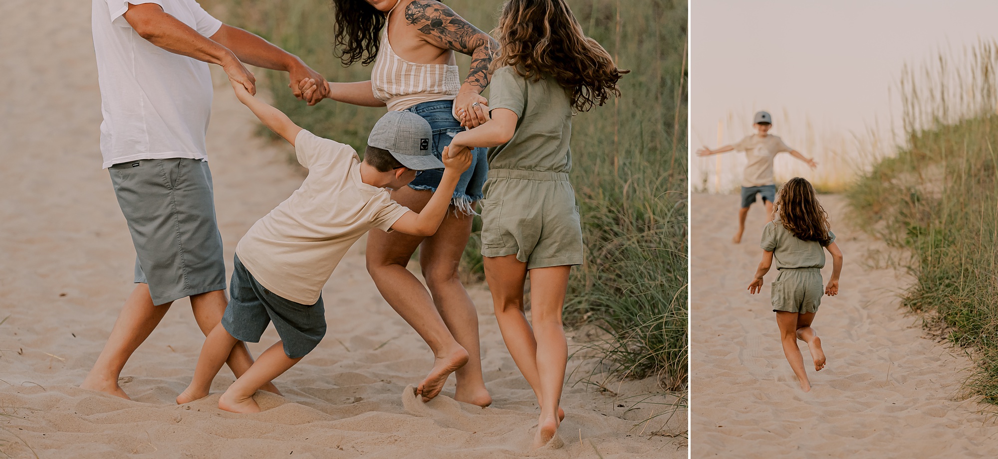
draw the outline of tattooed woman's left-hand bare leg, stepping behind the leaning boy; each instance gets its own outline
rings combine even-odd
[[[398,204],[418,212],[432,193],[403,187],[392,192],[391,197]],[[422,240],[422,237],[398,231],[370,230],[367,233],[366,258],[367,272],[374,279],[381,296],[433,351],[433,368],[416,388],[423,401],[429,401],[440,393],[450,373],[467,363],[468,351],[447,329],[423,284],[405,268]]]

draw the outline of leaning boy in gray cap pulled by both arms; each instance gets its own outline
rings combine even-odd
[[[273,322],[280,340],[267,348],[219,399],[219,408],[254,413],[253,392],[311,351],[325,334],[322,285],[346,250],[377,228],[428,236],[443,220],[461,173],[471,164],[467,149],[431,154],[429,124],[408,112],[389,112],[367,139],[363,162],[347,145],[316,137],[283,113],[233,83],[240,102],[294,146],[308,177],[291,197],[247,231],[236,247],[232,299],[222,322],[205,339],[191,385],[177,397],[187,403],[208,395],[212,380],[239,341],[259,341]],[[406,186],[421,171],[445,167],[438,191],[422,213],[391,200],[386,188]]]

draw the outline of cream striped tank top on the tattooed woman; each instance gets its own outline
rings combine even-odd
[[[384,102],[389,111],[398,111],[423,102],[454,100],[461,79],[456,65],[416,64],[398,57],[388,42],[386,20],[371,70],[371,89],[374,98]]]

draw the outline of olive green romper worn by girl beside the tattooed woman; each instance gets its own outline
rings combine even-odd
[[[572,101],[551,77],[525,79],[511,67],[489,83],[491,110],[516,114],[509,142],[489,149],[482,200],[482,255],[535,267],[582,264],[582,227],[572,169]]]

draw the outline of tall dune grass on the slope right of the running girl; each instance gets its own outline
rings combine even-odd
[[[905,145],[848,193],[858,218],[910,254],[903,304],[963,346],[966,395],[998,404],[998,46],[940,53],[901,79]]]

